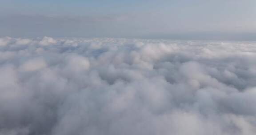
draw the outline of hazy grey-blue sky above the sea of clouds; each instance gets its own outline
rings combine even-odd
[[[255,0],[0,0],[0,36],[255,40]]]

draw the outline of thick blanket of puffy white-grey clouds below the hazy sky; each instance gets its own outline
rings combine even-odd
[[[256,43],[0,38],[0,135],[255,135]]]

